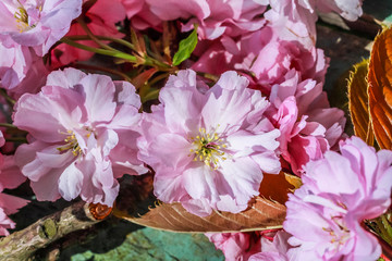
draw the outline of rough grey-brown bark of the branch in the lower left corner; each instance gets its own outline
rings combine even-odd
[[[100,222],[89,212],[88,203],[77,202],[52,215],[38,220],[25,229],[0,238],[1,260],[28,260],[34,252],[59,238]]]

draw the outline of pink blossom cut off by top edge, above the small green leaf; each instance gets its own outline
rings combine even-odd
[[[183,32],[193,29],[196,23],[200,39],[217,39],[222,35],[235,37],[261,28],[265,20],[260,15],[266,11],[268,1],[146,0],[146,3],[161,21],[187,20],[182,25]]]

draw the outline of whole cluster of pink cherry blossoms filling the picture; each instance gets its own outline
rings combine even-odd
[[[322,90],[329,59],[315,46],[318,13],[354,21],[360,5],[362,0],[0,2],[0,87],[14,103],[12,126],[26,137],[17,148],[5,144],[5,130],[0,139],[0,235],[15,227],[9,215],[28,202],[2,191],[26,178],[37,200],[81,198],[112,207],[123,175],[154,172],[159,200],[208,216],[246,210],[265,174],[284,170],[303,185],[289,195],[283,229],[208,234],[226,260],[376,260],[381,248],[365,221],[391,204],[392,152],[346,138],[344,113],[330,108]],[[163,54],[154,53],[154,40],[143,49],[138,34],[167,34],[169,25],[181,36],[197,33],[191,59],[177,67],[171,58],[145,64]],[[125,40],[128,30],[133,42]],[[135,67],[152,64],[159,71],[163,63],[160,76],[167,77],[155,83],[164,83],[149,86],[143,78],[149,71],[142,67],[146,95],[140,80],[133,85],[75,69],[94,64],[95,52],[126,63],[121,59],[131,55],[111,41],[134,48]],[[130,73],[102,71],[125,78]],[[154,91],[157,99],[146,102]]]

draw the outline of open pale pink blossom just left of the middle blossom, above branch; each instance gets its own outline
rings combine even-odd
[[[143,174],[136,159],[139,97],[125,82],[65,69],[15,104],[14,124],[29,133],[15,152],[38,200],[60,196],[112,206],[117,178]]]

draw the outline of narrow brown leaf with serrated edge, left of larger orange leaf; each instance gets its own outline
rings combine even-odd
[[[348,110],[356,136],[368,145],[375,144],[368,104],[368,60],[354,65],[348,80]]]

